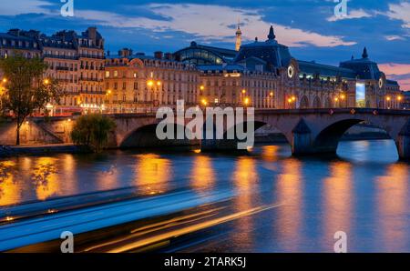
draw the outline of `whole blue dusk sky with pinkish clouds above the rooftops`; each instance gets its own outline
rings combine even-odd
[[[106,47],[131,47],[152,54],[174,52],[195,40],[234,47],[238,19],[245,42],[265,39],[274,25],[277,40],[294,57],[338,65],[367,46],[384,72],[410,90],[410,1],[350,0],[348,15],[333,13],[333,0],[145,1],[74,0],[74,17],[60,15],[60,0],[2,0],[0,31],[60,29],[95,25]]]

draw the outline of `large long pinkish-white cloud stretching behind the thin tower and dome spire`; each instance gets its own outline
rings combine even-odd
[[[231,42],[234,36],[232,22],[238,18],[242,21],[242,33],[245,40],[253,40],[255,36],[261,39],[268,33],[270,25],[275,27],[277,38],[284,45],[299,47],[305,45],[339,46],[354,45],[354,42],[343,41],[336,35],[322,35],[311,31],[278,25],[266,21],[261,10],[238,9],[223,5],[193,5],[193,4],[150,4],[154,15],[162,19],[151,19],[143,16],[118,15],[112,12],[93,10],[76,10],[76,16],[91,20],[100,25],[113,27],[139,27],[155,32],[180,31],[195,35],[203,41]],[[141,5],[130,6],[138,9]]]

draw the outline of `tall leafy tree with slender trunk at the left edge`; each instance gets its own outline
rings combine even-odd
[[[35,110],[46,108],[54,101],[59,104],[64,95],[56,80],[43,78],[47,65],[39,57],[26,58],[15,53],[0,59],[0,69],[5,76],[5,92],[2,95],[4,108],[13,111],[16,120],[15,144],[20,145],[20,128],[26,117]]]

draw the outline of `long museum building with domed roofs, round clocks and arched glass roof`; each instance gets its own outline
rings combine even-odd
[[[231,56],[235,54],[235,56]],[[400,86],[387,80],[367,50],[360,59],[339,66],[306,62],[292,57],[276,40],[241,45],[239,52],[197,45],[174,54],[198,65],[201,101],[252,105],[256,108],[400,108]]]

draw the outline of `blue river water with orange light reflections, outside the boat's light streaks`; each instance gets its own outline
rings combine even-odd
[[[337,157],[294,158],[290,146],[249,153],[113,151],[0,161],[0,206],[133,186],[235,192],[235,211],[276,207],[210,227],[180,251],[332,252],[343,231],[351,252],[410,252],[410,164],[390,140],[342,142]],[[198,237],[198,236],[197,236]]]

